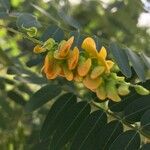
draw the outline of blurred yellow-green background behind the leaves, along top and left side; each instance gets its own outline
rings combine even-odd
[[[3,12],[5,8],[2,0],[0,2],[0,12]],[[44,12],[35,9],[33,4]],[[66,34],[80,30],[85,35],[100,37],[104,43],[116,41],[150,56],[149,7],[148,0],[10,0],[10,16],[0,13],[0,25],[18,30],[17,14],[28,12],[42,23],[38,36],[49,25],[59,25]],[[62,19],[64,14],[66,18]],[[32,114],[24,112],[28,98],[47,82],[41,76],[42,64],[34,66],[42,59],[33,54],[34,46],[20,34],[0,28],[0,150],[44,149],[45,143],[39,141],[39,130],[51,104]],[[30,62],[31,58],[34,63]],[[9,70],[14,64],[18,70]]]

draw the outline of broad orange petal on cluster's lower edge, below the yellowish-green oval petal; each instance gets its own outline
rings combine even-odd
[[[102,83],[102,79],[101,78],[91,79],[89,75],[87,75],[83,79],[84,86],[87,87],[90,90],[97,89],[100,86],[101,83]]]

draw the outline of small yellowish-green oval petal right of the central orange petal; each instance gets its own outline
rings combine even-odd
[[[104,66],[96,66],[96,67],[92,70],[92,72],[91,72],[91,74],[90,74],[90,77],[91,77],[92,79],[95,79],[95,78],[97,78],[98,76],[100,76],[104,71],[105,71],[105,67],[104,67]]]

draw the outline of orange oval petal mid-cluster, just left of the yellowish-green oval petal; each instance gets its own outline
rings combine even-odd
[[[88,58],[85,62],[82,62],[81,64],[79,64],[77,68],[78,74],[81,77],[86,76],[91,68],[91,65],[92,65],[92,62],[90,58]]]

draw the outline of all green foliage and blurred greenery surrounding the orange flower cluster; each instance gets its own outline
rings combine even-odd
[[[150,89],[150,35],[137,26],[142,11],[137,0],[0,0],[0,149],[149,149],[150,95],[141,93]],[[49,38],[57,45],[71,36],[72,48],[84,49],[89,36],[97,49],[105,46],[130,94],[101,101],[82,83],[42,76]]]

